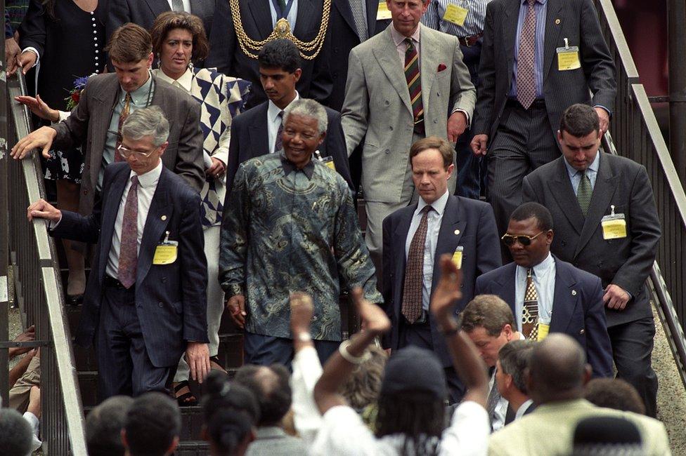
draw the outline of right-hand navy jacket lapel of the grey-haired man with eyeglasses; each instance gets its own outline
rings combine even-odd
[[[143,228],[141,248],[138,250],[136,286],[139,286],[145,279],[145,275],[148,274],[150,265],[153,263],[155,246],[162,239],[164,229],[167,228],[167,224],[173,215],[173,206],[171,206],[169,199],[168,173],[171,171],[162,167],[162,174],[160,174],[160,180],[157,182],[153,201],[150,201],[148,218],[145,219],[145,228]]]

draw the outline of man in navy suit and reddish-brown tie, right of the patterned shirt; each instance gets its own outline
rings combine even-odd
[[[417,345],[435,351],[446,368],[455,403],[465,393],[464,386],[428,312],[429,301],[440,277],[439,258],[446,253],[462,269],[462,299],[455,313],[472,300],[477,277],[500,266],[496,222],[488,204],[448,194],[454,165],[446,140],[429,137],[415,142],[410,163],[420,201],[383,222],[382,293],[392,323],[383,343],[393,350]]]

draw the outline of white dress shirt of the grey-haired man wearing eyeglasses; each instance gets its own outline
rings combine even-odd
[[[138,176],[138,248],[136,252],[141,251],[141,239],[143,238],[143,229],[145,228],[145,220],[148,219],[148,210],[150,210],[150,203],[153,201],[155,189],[157,189],[157,182],[160,180],[162,174],[162,161],[157,163],[157,166],[148,171],[148,173]],[[122,200],[119,201],[119,210],[117,211],[117,219],[115,220],[115,230],[112,233],[112,246],[110,247],[110,254],[108,255],[108,263],[105,267],[105,272],[108,276],[115,279],[119,275],[119,247],[122,239],[122,224],[124,223],[124,206],[127,204],[127,196],[131,188],[131,177],[136,173],[131,171],[129,173],[129,182],[124,187]]]

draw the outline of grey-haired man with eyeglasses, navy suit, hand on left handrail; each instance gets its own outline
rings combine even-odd
[[[95,342],[101,398],[163,391],[186,351],[193,378],[209,373],[207,262],[200,196],[162,166],[169,122],[138,109],[122,128],[126,163],[105,170],[103,197],[88,217],[43,200],[29,220],[51,234],[98,243],[76,342]]]

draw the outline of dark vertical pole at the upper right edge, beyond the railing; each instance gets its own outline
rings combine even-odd
[[[686,180],[686,2],[667,1],[669,58],[669,152],[681,182]]]

